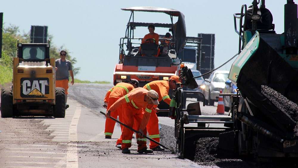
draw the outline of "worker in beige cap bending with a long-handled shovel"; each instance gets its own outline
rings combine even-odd
[[[146,90],[142,87],[133,89],[127,95],[119,98],[111,107],[108,108],[106,117],[110,117],[111,113],[121,108],[123,123],[128,127],[133,127],[136,124],[136,130],[146,135],[146,125],[149,121],[153,105],[158,105],[158,93],[154,90]],[[143,109],[145,111],[143,112]],[[131,139],[133,132],[126,127],[122,129],[122,153],[130,153]],[[137,144],[139,153],[152,153],[152,150],[147,149],[146,138],[137,134]]]

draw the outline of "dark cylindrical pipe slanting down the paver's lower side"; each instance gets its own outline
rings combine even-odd
[[[256,129],[258,132],[260,132],[261,134],[267,136],[268,138],[271,138],[271,139],[273,139],[273,140],[275,140],[279,143],[283,143],[283,141],[284,141],[282,138],[275,135],[271,131],[267,130],[266,128],[264,128],[263,126],[258,124],[256,121],[253,121],[252,120],[253,118],[244,115],[242,112],[237,113],[237,119],[242,121],[244,124],[252,127],[253,129]]]

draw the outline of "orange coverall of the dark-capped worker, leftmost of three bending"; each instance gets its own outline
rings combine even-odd
[[[114,104],[119,98],[123,97],[124,95],[128,94],[131,90],[134,89],[134,86],[128,83],[120,82],[116,84],[116,86],[112,87],[105,95],[105,102],[108,103],[107,109],[111,107],[112,104]],[[117,118],[119,116],[119,121],[122,122],[122,112],[120,110],[115,110],[111,113],[111,117]],[[115,121],[113,121],[110,118],[107,118],[105,120],[105,135],[111,135],[114,132],[115,127]],[[122,130],[122,125],[120,125]],[[121,144],[122,138],[120,137],[117,140],[116,144]]]

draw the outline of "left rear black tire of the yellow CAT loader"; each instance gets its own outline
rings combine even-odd
[[[13,117],[13,89],[11,87],[1,88],[1,117]]]

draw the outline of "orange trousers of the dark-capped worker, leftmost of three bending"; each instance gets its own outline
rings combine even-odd
[[[114,104],[119,98],[114,98],[114,97],[110,97],[109,98],[109,102],[108,102],[108,107],[107,109],[109,109],[111,107],[112,104]],[[117,109],[113,112],[111,112],[111,117],[117,119],[117,117],[119,116],[119,121],[122,122],[122,111],[121,109]],[[105,120],[105,135],[111,135],[114,132],[114,127],[115,127],[115,121],[112,120],[111,118],[106,118]],[[120,125],[121,130],[122,130],[122,125]],[[122,139],[121,136],[120,138],[117,140],[117,144],[121,144],[122,143]]]

